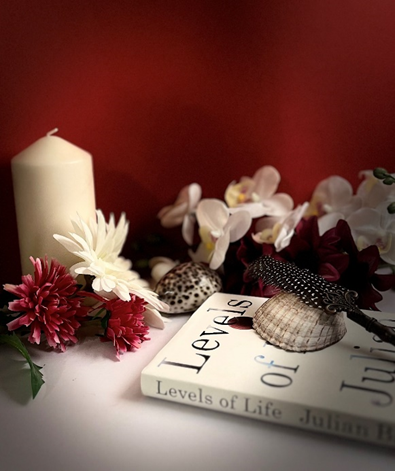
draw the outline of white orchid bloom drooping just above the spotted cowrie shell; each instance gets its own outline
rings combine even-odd
[[[229,208],[220,200],[204,199],[196,209],[201,243],[195,253],[190,252],[195,262],[209,263],[216,270],[225,260],[229,244],[241,239],[251,226],[248,211],[229,213]]]

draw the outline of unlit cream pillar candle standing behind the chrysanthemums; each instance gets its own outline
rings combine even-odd
[[[22,274],[29,260],[48,256],[70,267],[78,259],[54,238],[73,230],[79,214],[95,217],[92,156],[51,131],[11,161]]]

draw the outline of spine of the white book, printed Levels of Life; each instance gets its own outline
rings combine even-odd
[[[158,378],[149,372],[141,376],[141,390],[157,399],[395,448],[395,427],[384,421]]]

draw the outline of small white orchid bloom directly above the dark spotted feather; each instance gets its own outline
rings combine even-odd
[[[259,219],[256,223],[256,230],[258,232],[252,234],[252,238],[258,244],[274,244],[277,252],[285,249],[285,247],[288,247],[295,233],[295,228],[303,218],[308,207],[309,203],[306,202],[297,206],[286,216],[268,216]]]

